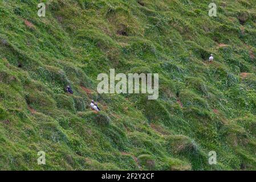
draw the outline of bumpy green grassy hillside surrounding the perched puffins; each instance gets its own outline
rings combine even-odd
[[[0,1],[0,169],[256,169],[254,0],[43,2]],[[159,99],[97,94],[109,68],[159,73]]]

